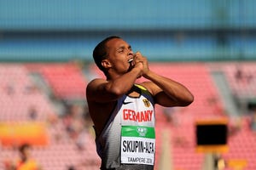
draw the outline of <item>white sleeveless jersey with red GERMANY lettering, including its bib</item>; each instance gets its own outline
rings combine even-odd
[[[121,164],[154,166],[154,100],[146,88],[135,88],[140,96],[120,98],[102,133],[96,136],[102,168]]]

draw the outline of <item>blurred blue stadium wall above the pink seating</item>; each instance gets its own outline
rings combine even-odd
[[[0,0],[1,60],[91,60],[124,37],[151,60],[256,59],[253,0]]]

